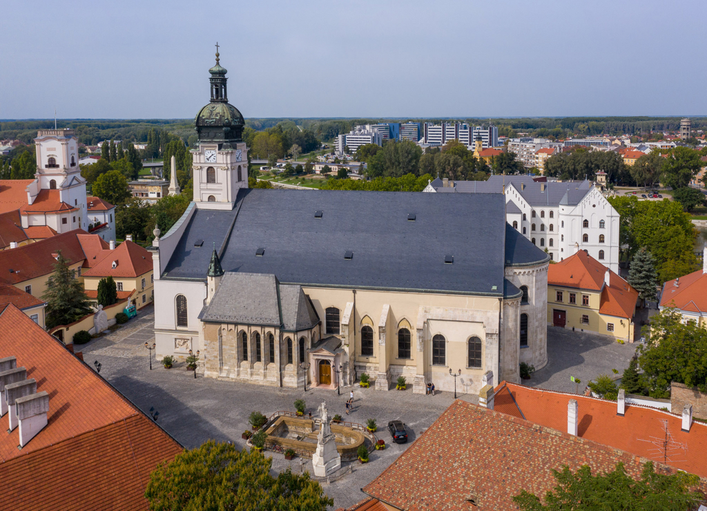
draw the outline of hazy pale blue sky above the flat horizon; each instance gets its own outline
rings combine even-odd
[[[707,2],[22,1],[0,119],[707,114]]]

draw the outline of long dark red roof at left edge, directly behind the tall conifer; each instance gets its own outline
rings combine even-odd
[[[70,230],[68,233],[57,234],[30,245],[0,251],[0,282],[16,284],[51,274],[54,264],[57,263],[52,254],[59,250],[69,259],[69,264],[85,260],[86,255],[83,254],[77,234],[86,234],[86,231]]]

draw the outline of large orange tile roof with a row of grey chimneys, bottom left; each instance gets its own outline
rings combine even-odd
[[[0,356],[49,393],[49,423],[25,447],[18,428],[0,435],[3,507],[147,510],[150,472],[182,446],[16,307],[0,331]]]

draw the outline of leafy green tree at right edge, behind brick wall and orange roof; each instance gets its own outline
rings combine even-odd
[[[670,305],[670,304],[668,304]],[[707,328],[682,322],[675,309],[664,309],[644,327],[650,339],[638,346],[638,363],[650,397],[670,397],[670,382],[707,392]]]

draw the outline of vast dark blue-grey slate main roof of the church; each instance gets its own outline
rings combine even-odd
[[[503,203],[501,194],[241,189],[233,211],[194,212],[163,278],[204,280],[211,242],[218,249],[226,240],[225,271],[308,286],[500,296]],[[197,239],[209,248],[194,247]],[[344,259],[347,250],[352,259]],[[453,264],[444,263],[447,254]]]

